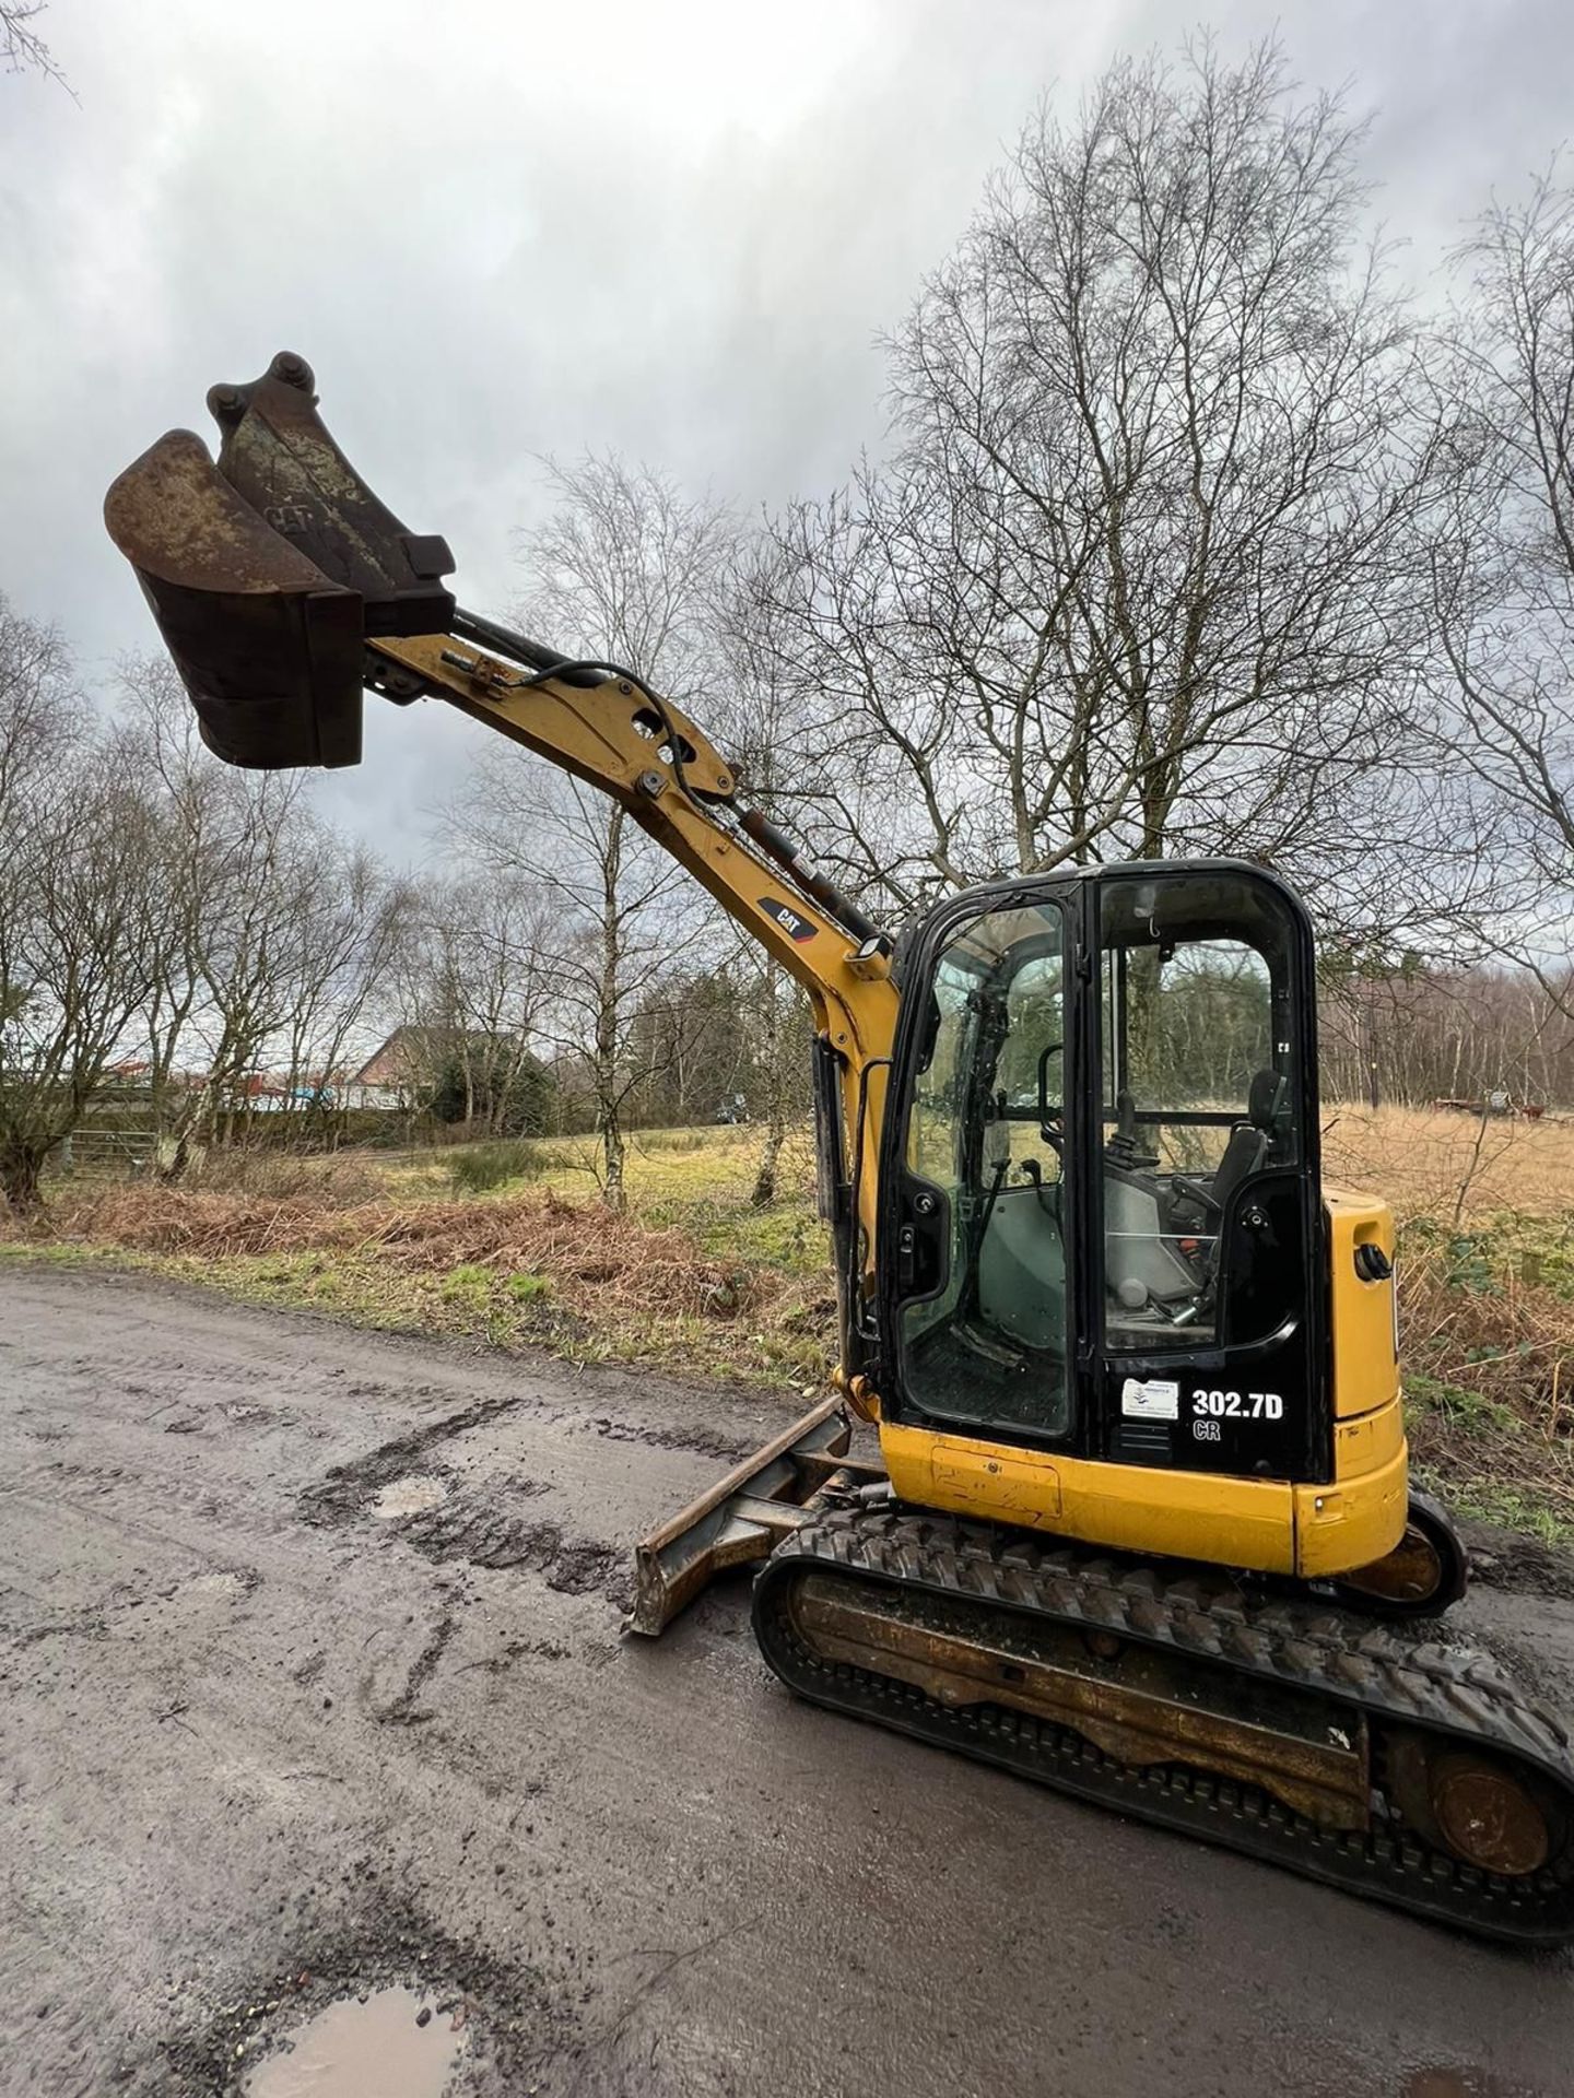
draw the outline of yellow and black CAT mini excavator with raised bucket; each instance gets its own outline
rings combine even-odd
[[[447,701],[617,799],[812,1003],[835,1389],[638,1546],[630,1628],[756,1565],[800,1697],[1574,1939],[1570,1733],[1438,1622],[1465,1553],[1408,1479],[1391,1217],[1320,1181],[1297,896],[1056,869],[892,940],[634,669],[460,611],[304,359],[208,407],[216,462],[168,432],[105,518],[216,757],[348,766],[367,690]]]

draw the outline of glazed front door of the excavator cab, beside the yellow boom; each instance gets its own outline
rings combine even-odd
[[[890,1418],[1072,1446],[1077,883],[959,898],[909,961],[881,1156]]]

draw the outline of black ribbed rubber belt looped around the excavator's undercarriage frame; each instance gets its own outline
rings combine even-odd
[[[873,1580],[1203,1655],[1245,1678],[1307,1693],[1331,1720],[1337,1708],[1364,1712],[1375,1741],[1389,1725],[1448,1735],[1534,1767],[1545,1787],[1568,1802],[1568,1834],[1540,1871],[1507,1880],[1459,1863],[1408,1825],[1322,1829],[1255,1785],[1182,1764],[1133,1769],[1068,1727],[1001,1706],[942,1706],[909,1683],[816,1660],[787,1609],[793,1582],[808,1571],[839,1571],[860,1584]],[[1522,1945],[1574,1939],[1570,1733],[1526,1706],[1496,1662],[1442,1643],[1438,1628],[1425,1636],[1415,1626],[1373,1626],[1299,1601],[1255,1599],[1228,1574],[1207,1567],[1165,1578],[1152,1563],[1047,1544],[991,1523],[831,1511],[783,1540],[766,1561],[753,1590],[753,1630],[770,1668],[814,1704],[1477,1936]]]

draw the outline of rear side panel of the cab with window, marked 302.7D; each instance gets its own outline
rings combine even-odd
[[[1326,1479],[1305,911],[1238,862],[1114,869],[1089,900],[1089,1454]]]

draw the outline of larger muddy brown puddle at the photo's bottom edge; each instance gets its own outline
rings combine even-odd
[[[246,2077],[246,2098],[443,2098],[464,2056],[464,2033],[411,1989],[378,1989],[365,2004],[329,2004],[288,2052]]]

